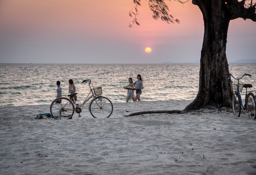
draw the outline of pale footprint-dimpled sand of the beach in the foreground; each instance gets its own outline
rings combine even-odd
[[[110,118],[85,105],[72,120],[34,119],[49,105],[0,107],[0,174],[256,174],[256,121],[231,110],[183,114],[192,101],[113,104]]]

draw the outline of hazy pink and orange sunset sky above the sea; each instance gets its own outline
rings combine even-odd
[[[0,63],[199,61],[203,15],[192,1],[166,1],[180,24],[154,20],[146,1],[129,28],[132,0],[0,0]],[[256,59],[256,22],[229,24],[228,61]],[[151,48],[151,53],[145,52]]]

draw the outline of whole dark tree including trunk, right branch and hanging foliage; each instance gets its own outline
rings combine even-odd
[[[175,0],[180,3],[180,0]],[[140,0],[133,0],[140,6]],[[187,1],[186,1],[187,2]],[[153,18],[173,23],[164,0],[148,0]],[[204,18],[204,41],[201,51],[199,90],[196,99],[185,110],[195,110],[212,104],[231,107],[229,65],[226,57],[226,44],[229,21],[237,18],[256,21],[255,6],[252,0],[192,0],[201,10]],[[131,14],[131,13],[130,13]],[[133,14],[133,13],[132,13]],[[137,19],[131,21],[132,27]]]

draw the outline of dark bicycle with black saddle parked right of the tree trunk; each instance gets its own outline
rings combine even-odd
[[[229,78],[232,75],[229,74]],[[250,74],[243,74],[237,78],[232,76],[235,79],[235,82],[230,82],[231,90],[234,92],[233,99],[232,99],[232,107],[234,115],[239,117],[241,114],[241,110],[246,110],[247,114],[249,116],[249,119],[254,120],[256,118],[256,91],[247,91],[247,88],[253,87],[251,84],[244,84],[242,82],[239,82],[244,76],[250,76]],[[228,79],[229,79],[228,78]],[[243,87],[246,88],[245,91],[245,104],[243,106],[241,94]],[[253,94],[254,92],[254,94]]]

